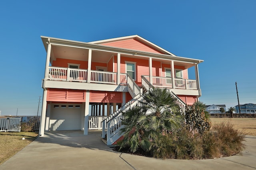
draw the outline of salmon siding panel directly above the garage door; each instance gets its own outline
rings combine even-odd
[[[84,90],[48,89],[46,101],[52,102],[85,102]]]

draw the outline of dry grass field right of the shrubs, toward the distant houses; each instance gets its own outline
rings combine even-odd
[[[244,135],[256,136],[256,118],[210,118],[212,125],[227,122],[233,127],[243,131]]]

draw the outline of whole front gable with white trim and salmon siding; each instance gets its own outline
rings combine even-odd
[[[150,41],[140,37],[139,35],[131,35],[126,37],[118,37],[112,39],[104,39],[100,41],[92,41],[88,43],[99,44],[99,45],[106,45],[110,47],[118,47],[123,49],[133,49],[138,51],[146,51],[150,53],[158,53],[158,54],[167,54],[176,56],[169,51],[151,43]]]

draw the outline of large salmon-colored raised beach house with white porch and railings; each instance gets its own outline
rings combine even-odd
[[[201,96],[202,60],[178,57],[138,35],[89,43],[41,38],[47,52],[41,136],[50,130],[86,135],[88,129],[102,129],[103,120],[104,129],[152,86],[169,89],[182,110]],[[188,68],[194,68],[196,80],[188,79]]]

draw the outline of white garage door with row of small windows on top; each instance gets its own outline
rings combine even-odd
[[[81,129],[81,106],[53,104],[50,115],[50,129],[80,130]]]

